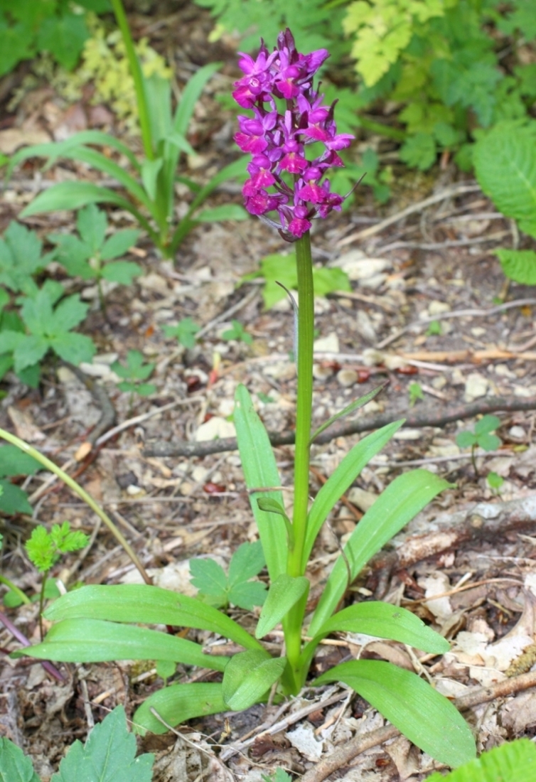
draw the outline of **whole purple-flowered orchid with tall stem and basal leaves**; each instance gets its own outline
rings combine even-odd
[[[254,113],[254,117],[239,117],[236,135],[240,148],[253,155],[250,179],[243,188],[246,209],[275,224],[282,237],[293,242],[299,296],[290,511],[282,500],[281,477],[268,433],[246,387],[236,389],[233,420],[269,579],[256,629],[250,633],[225,612],[160,587],[94,585],[55,601],[45,612],[54,622],[45,640],[16,654],[65,662],[151,659],[222,673],[221,680],[215,674],[210,682],[171,683],[149,696],[135,712],[134,722],[138,730],[154,733],[166,730],[155,712],[164,723],[176,725],[214,712],[242,710],[270,697],[280,701],[298,694],[306,682],[310,686],[344,682],[424,752],[456,767],[475,755],[469,726],[447,698],[415,673],[389,662],[358,659],[336,665],[317,679],[308,678],[318,644],[330,633],[367,633],[432,655],[449,648],[447,640],[405,608],[378,601],[344,602],[348,587],[369,559],[448,488],[446,481],[423,469],[399,475],[380,494],[345,543],[322,584],[318,603],[308,604],[308,563],[318,533],[340,497],[404,422],[383,426],[354,444],[310,501],[309,465],[315,436],[376,393],[354,401],[324,427],[311,431],[315,319],[310,228],[313,219],[342,206],[344,197],[331,190],[326,174],[340,165],[337,151],[351,143],[350,135],[337,134],[334,106],[324,105],[323,96],[313,88],[313,77],[328,56],[322,49],[301,54],[287,29],[279,34],[273,52],[263,43],[255,59],[240,56],[244,75],[233,93],[240,106]],[[284,107],[284,113],[278,106]],[[269,213],[275,213],[275,220],[266,217]],[[340,605],[344,608],[337,610]],[[208,630],[239,644],[243,651],[230,658],[210,655],[192,640],[142,625]],[[263,640],[279,625],[284,653],[272,654],[272,647],[268,651]]]

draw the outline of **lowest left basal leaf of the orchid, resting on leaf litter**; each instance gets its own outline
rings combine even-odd
[[[187,719],[225,712],[227,707],[221,697],[221,683],[171,684],[149,695],[134,713],[132,722],[137,733],[167,733],[167,725],[154,716],[152,708],[167,725],[175,726]]]

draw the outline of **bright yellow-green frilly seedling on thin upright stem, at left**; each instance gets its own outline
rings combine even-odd
[[[45,527],[35,527],[26,543],[26,551],[32,563],[43,574],[41,595],[39,597],[39,628],[41,639],[43,626],[41,615],[46,597],[46,583],[52,565],[55,565],[62,554],[68,551],[78,551],[88,544],[88,536],[79,529],[70,529],[69,522],[54,524],[48,532]],[[57,597],[58,595],[56,595]]]

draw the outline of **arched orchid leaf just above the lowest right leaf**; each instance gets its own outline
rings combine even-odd
[[[388,603],[356,603],[334,614],[316,633],[316,638],[329,633],[366,633],[378,638],[398,640],[416,649],[444,655],[451,645],[439,633],[405,608]]]

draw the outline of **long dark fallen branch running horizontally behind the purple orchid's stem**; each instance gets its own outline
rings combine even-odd
[[[441,427],[450,424],[453,421],[463,421],[466,418],[474,418],[476,415],[486,413],[497,413],[500,411],[514,412],[520,410],[536,410],[536,397],[510,397],[488,396],[487,399],[481,399],[469,404],[460,404],[447,410],[432,407],[419,407],[417,410],[409,410],[405,413],[404,426],[412,429],[420,429],[423,426]],[[401,413],[366,416],[358,418],[356,421],[336,421],[326,432],[322,432],[317,437],[315,443],[329,443],[336,437],[359,434],[360,432],[370,432],[372,429],[380,429],[381,426],[398,421]],[[268,437],[273,446],[292,445],[294,443],[294,432],[268,432]],[[143,455],[148,456],[185,456],[185,457],[203,457],[209,454],[221,454],[226,450],[237,449],[236,437],[223,437],[217,440],[210,440],[203,443],[162,443],[156,441],[149,445]]]

